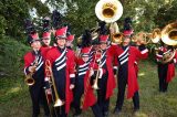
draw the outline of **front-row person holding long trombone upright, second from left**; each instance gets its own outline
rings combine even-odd
[[[56,116],[66,117],[72,102],[72,89],[74,88],[74,52],[66,49],[66,26],[55,31],[58,46],[46,53],[46,61],[50,61],[55,81],[56,91],[64,105],[55,107]],[[46,67],[46,66],[45,66]],[[48,77],[45,77],[48,82]]]

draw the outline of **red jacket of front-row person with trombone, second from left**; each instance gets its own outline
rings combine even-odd
[[[75,70],[75,62],[74,62],[74,52],[69,50],[69,49],[64,49],[65,52],[65,56],[64,54],[62,54],[58,46],[52,47],[51,50],[48,51],[46,54],[46,60],[50,61],[51,65],[53,66],[55,64],[55,61],[61,59],[62,56],[66,57],[66,62],[64,64],[62,64],[61,66],[59,66],[58,68],[61,68],[62,66],[65,66],[65,113],[67,114],[70,110],[70,104],[73,99],[73,94],[72,91],[70,89],[70,84],[71,84],[71,78],[75,77],[74,74],[74,70]],[[56,72],[56,71],[55,71]],[[60,76],[59,76],[60,77]]]

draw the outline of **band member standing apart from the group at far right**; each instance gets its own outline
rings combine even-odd
[[[163,43],[163,42],[162,42]],[[157,71],[158,71],[158,79],[159,79],[159,92],[167,92],[168,83],[171,82],[175,76],[175,56],[166,63],[163,63],[163,55],[171,52],[174,49],[163,43],[163,45],[157,50],[156,61],[157,61]]]

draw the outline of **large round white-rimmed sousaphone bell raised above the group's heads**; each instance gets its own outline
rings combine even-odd
[[[123,14],[123,6],[118,0],[100,0],[95,7],[95,13],[101,21],[115,22]]]

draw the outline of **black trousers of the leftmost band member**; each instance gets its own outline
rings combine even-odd
[[[45,93],[43,86],[34,86],[29,87],[31,99],[32,99],[32,117],[38,117],[40,114],[40,104],[42,104],[45,115],[50,115]]]

